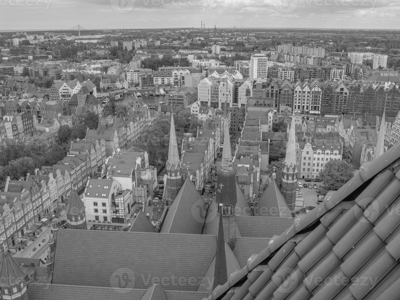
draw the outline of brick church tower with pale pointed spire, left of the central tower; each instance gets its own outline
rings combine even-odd
[[[179,160],[178,144],[176,142],[174,116],[171,116],[170,145],[166,164],[167,178],[164,187],[164,199],[168,204],[174,202],[182,187],[182,162]]]

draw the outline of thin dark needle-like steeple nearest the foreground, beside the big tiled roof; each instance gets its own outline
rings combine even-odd
[[[218,285],[223,285],[227,281],[228,281],[228,274],[226,272],[224,225],[222,224],[222,217],[220,217],[220,222],[218,225],[217,251],[215,254],[213,290]]]

